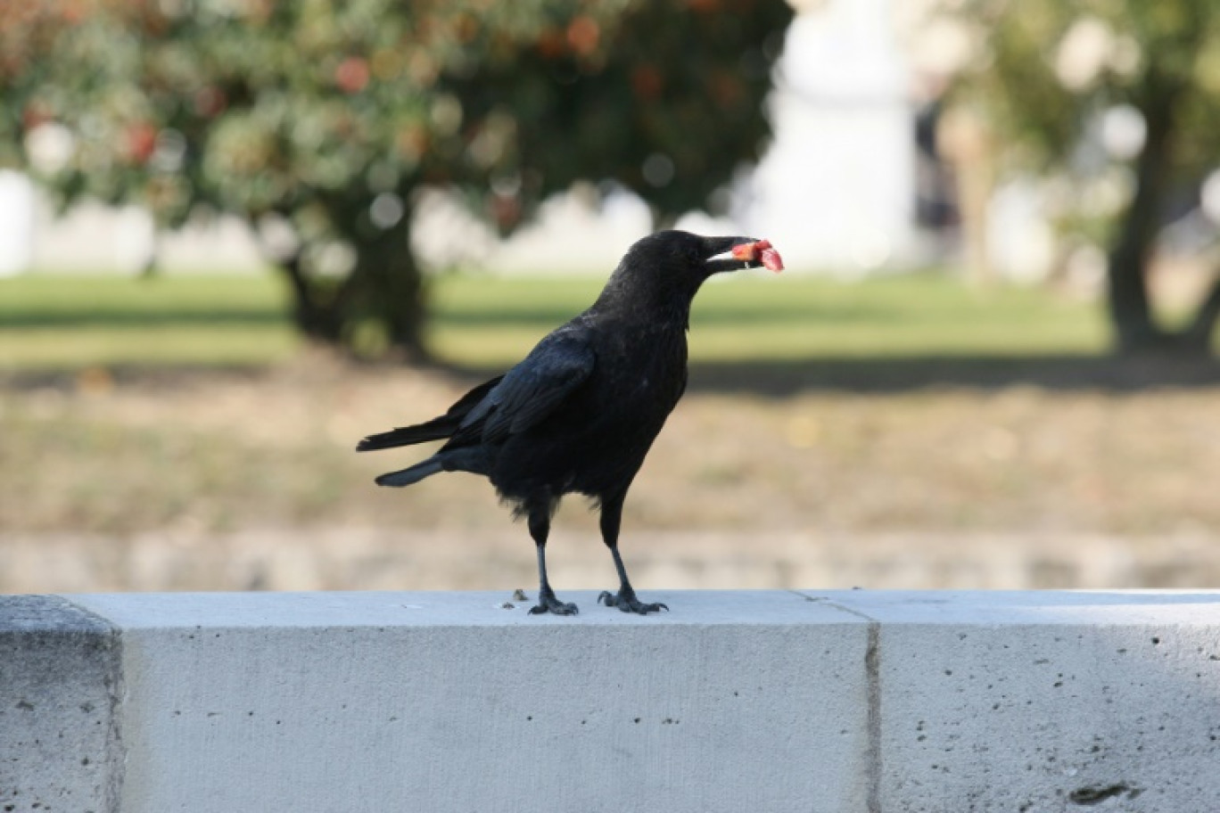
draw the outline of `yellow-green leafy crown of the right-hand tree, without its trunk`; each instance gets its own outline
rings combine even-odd
[[[1017,163],[1065,168],[1097,116],[1179,94],[1176,169],[1220,161],[1220,6],[1213,0],[966,0],[977,39],[959,98],[985,110]]]

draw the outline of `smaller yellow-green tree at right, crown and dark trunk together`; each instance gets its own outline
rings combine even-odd
[[[1170,191],[1197,188],[1220,163],[1220,4],[947,5],[981,45],[959,77],[959,101],[1015,147],[1010,161],[1063,172],[1098,193],[1083,195],[1092,201],[1085,215],[1099,213],[1107,224],[1116,349],[1207,353],[1220,280],[1190,324],[1170,330],[1153,316],[1148,268]]]

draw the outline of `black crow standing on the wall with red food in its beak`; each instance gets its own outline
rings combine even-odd
[[[734,258],[720,258],[730,254]],[[619,524],[632,479],[687,383],[691,301],[708,277],[766,266],[780,255],[765,240],[659,232],[627,251],[590,308],[544,338],[516,367],[479,384],[449,411],[414,427],[370,435],[356,451],[448,438],[432,457],[377,478],[404,486],[438,472],[487,477],[526,517],[538,550],[538,605],[569,616],[547,580],[547,535],[565,494],[600,507],[601,539],[619,572],[619,592],[598,601],[623,612],[669,609],[639,601],[619,556]]]

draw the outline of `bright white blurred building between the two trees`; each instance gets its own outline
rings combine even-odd
[[[741,219],[795,268],[870,271],[911,247],[915,126],[889,6],[838,0],[788,29]]]

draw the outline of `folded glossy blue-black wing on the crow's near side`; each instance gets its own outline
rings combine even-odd
[[[560,328],[505,373],[487,397],[466,414],[451,442],[470,442],[475,433],[483,442],[495,442],[529,429],[580,386],[595,363],[587,329]]]

